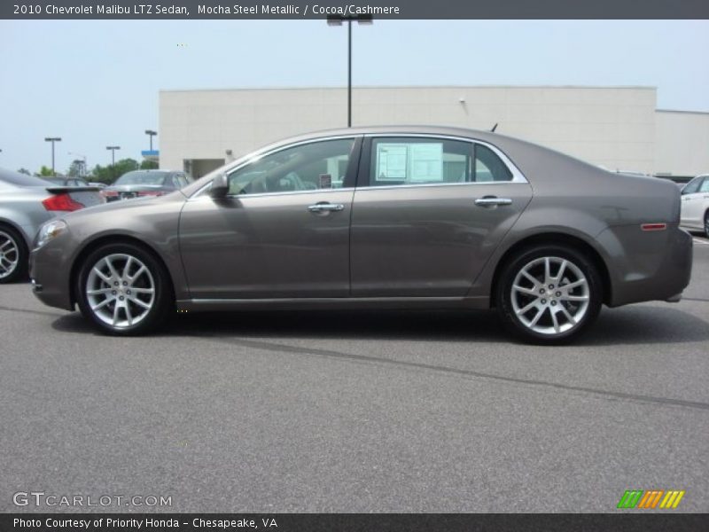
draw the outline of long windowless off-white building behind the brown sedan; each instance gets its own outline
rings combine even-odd
[[[353,125],[491,129],[612,170],[709,172],[709,113],[656,109],[653,87],[355,87]],[[160,167],[199,177],[291,135],[347,125],[347,89],[163,90]]]

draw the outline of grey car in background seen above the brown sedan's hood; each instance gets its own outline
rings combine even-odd
[[[184,172],[171,170],[134,170],[119,177],[101,191],[106,201],[129,200],[146,196],[162,196],[191,183]]]

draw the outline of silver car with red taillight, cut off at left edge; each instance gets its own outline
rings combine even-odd
[[[0,283],[27,275],[32,239],[43,223],[103,202],[97,187],[51,184],[0,168]]]

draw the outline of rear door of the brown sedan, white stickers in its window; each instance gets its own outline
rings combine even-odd
[[[494,146],[367,137],[351,230],[355,297],[463,297],[532,189]]]

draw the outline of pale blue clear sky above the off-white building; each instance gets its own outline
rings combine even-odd
[[[709,112],[706,20],[375,20],[354,85],[641,85]],[[0,167],[140,160],[169,89],[343,86],[347,30],[318,20],[0,21]],[[343,102],[344,105],[344,102]],[[156,137],[160,147],[160,135]]]

